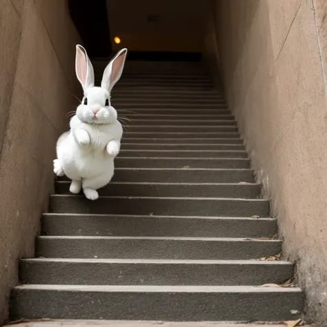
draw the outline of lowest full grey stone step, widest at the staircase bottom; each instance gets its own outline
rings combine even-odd
[[[10,316],[12,319],[283,321],[297,319],[303,305],[304,296],[299,288],[21,285],[12,291]]]

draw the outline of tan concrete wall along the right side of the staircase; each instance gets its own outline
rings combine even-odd
[[[297,263],[307,319],[326,326],[327,2],[217,0],[212,14],[228,104]]]

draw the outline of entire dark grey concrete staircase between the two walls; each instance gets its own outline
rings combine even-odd
[[[128,124],[115,177],[97,201],[56,182],[36,258],[20,261],[12,319],[299,318],[299,288],[263,286],[292,279],[293,265],[270,261],[276,221],[206,72],[128,63],[112,104]]]

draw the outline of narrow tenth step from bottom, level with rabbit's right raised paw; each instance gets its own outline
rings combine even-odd
[[[245,150],[243,144],[122,143],[121,150]]]

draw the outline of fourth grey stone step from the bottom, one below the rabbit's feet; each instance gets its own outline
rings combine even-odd
[[[273,237],[272,218],[54,214],[42,217],[52,236]]]

